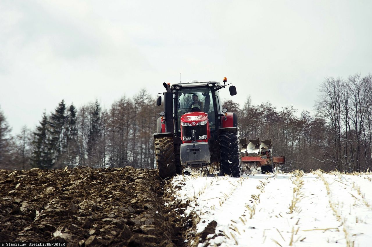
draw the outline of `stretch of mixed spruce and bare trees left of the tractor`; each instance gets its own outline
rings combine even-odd
[[[95,101],[79,109],[62,100],[43,113],[31,131],[11,136],[0,111],[0,169],[65,166],[154,168],[153,134],[161,107],[142,89],[102,109]]]

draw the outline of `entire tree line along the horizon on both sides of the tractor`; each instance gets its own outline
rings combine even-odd
[[[326,78],[314,115],[269,101],[253,105],[250,96],[244,105],[228,100],[223,107],[238,114],[240,138],[272,138],[273,154],[286,157],[285,171],[365,171],[372,166],[371,85],[371,75]],[[25,126],[15,136],[0,109],[0,168],[154,168],[153,133],[162,109],[145,89],[109,109],[98,101],[77,109],[62,100],[35,129]]]

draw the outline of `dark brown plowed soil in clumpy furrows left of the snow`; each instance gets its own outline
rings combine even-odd
[[[164,205],[167,186],[132,167],[0,170],[0,241],[183,246],[192,221]]]

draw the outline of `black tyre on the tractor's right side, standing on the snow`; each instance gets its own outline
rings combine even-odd
[[[220,173],[238,178],[241,175],[238,135],[234,132],[219,134],[221,154]]]

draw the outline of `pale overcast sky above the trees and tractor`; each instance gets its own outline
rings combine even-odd
[[[327,76],[372,73],[372,1],[0,0],[0,107],[17,134],[64,99],[106,108],[163,82],[311,111]]]

